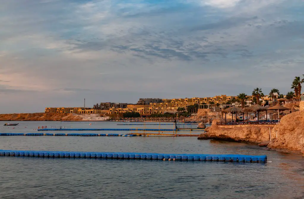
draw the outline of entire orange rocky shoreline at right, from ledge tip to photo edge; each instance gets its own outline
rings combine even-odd
[[[304,156],[304,102],[300,103],[300,111],[282,117],[277,125],[238,125],[218,126],[214,120],[199,140],[226,140],[248,142],[267,146],[271,150],[302,152]]]

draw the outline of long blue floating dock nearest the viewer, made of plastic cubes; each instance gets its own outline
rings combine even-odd
[[[164,153],[112,153],[112,152],[69,152],[69,151],[21,151],[0,150],[0,156],[58,157],[58,158],[108,158],[142,160],[188,160],[222,162],[260,162],[266,163],[267,156],[250,155],[211,155],[211,154],[164,154]]]

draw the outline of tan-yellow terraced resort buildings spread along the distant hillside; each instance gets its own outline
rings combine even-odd
[[[274,93],[275,94],[275,93]],[[253,101],[253,96],[247,96],[246,103],[250,104]],[[302,94],[303,98],[303,94]],[[263,102],[273,99],[274,102],[277,96],[264,96],[261,98]],[[78,113],[78,114],[94,114],[94,113],[108,113],[108,114],[119,114],[127,112],[136,112],[141,115],[151,115],[151,114],[164,114],[164,113],[176,113],[177,109],[180,107],[187,108],[187,106],[199,104],[226,104],[230,101],[231,104],[237,101],[237,96],[213,96],[213,97],[192,97],[192,98],[173,98],[173,99],[160,99],[160,98],[140,98],[137,104],[129,103],[112,103],[112,102],[102,102],[100,104],[95,104],[93,108],[83,108],[83,107],[47,107],[45,108],[45,113]],[[233,103],[232,103],[233,102]],[[271,102],[270,102],[271,103]]]

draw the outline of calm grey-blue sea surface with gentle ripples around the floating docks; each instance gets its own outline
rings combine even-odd
[[[33,133],[38,126],[60,125],[141,127],[119,126],[121,123],[116,122],[92,122],[92,125],[90,122],[19,122],[12,129],[2,126],[4,123],[0,122],[1,133]],[[173,124],[161,126],[172,127]],[[0,149],[268,156],[266,164],[0,157],[0,198],[3,199],[304,198],[304,159],[300,155],[263,150],[246,143],[196,137],[1,136]]]

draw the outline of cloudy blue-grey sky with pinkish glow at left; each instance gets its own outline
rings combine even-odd
[[[0,0],[0,113],[291,91],[303,0]]]

